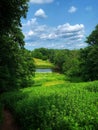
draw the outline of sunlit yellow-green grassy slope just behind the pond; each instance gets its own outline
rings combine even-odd
[[[37,58],[33,58],[35,62],[36,68],[53,68],[53,64],[48,60],[41,60]]]

